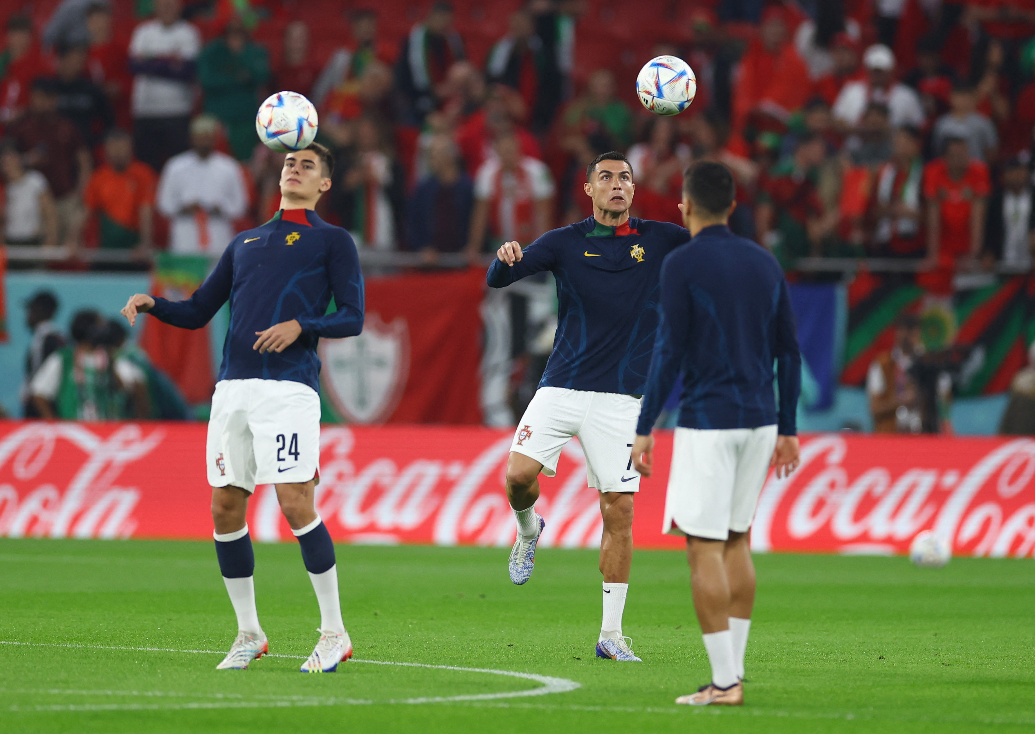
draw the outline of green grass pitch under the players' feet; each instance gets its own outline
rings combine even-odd
[[[977,732],[1035,726],[1035,566],[770,555],[745,705],[676,706],[708,679],[684,557],[639,552],[625,633],[642,664],[595,659],[596,554],[544,549],[524,587],[506,549],[341,546],[359,660],[301,675],[316,598],[293,544],[257,546],[270,652],[216,672],[236,632],[211,544],[0,540],[3,732]],[[14,645],[9,643],[32,643]],[[51,646],[41,646],[47,644]],[[112,649],[112,648],[159,648]]]

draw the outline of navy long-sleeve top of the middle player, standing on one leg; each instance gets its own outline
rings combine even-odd
[[[557,333],[539,386],[641,394],[658,323],[661,261],[689,238],[666,222],[608,227],[591,216],[542,235],[513,267],[494,261],[486,275],[493,288],[542,270],[557,282]]]

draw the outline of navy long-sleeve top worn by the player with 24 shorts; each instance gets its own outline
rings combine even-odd
[[[327,313],[331,296],[337,311]],[[230,300],[230,329],[220,380],[291,380],[320,391],[320,336],[355,336],[363,329],[363,274],[356,243],[315,211],[289,209],[241,232],[188,299],[155,298],[150,314],[173,326],[201,328]],[[283,352],[252,346],[264,331],[298,321],[302,333]]]

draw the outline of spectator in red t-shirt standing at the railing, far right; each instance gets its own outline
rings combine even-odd
[[[984,241],[985,200],[992,190],[988,167],[972,158],[963,138],[945,141],[945,155],[923,172],[927,200],[927,259],[947,266],[976,259]]]

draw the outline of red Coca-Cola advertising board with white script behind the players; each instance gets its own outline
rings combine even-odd
[[[678,548],[661,534],[672,435],[658,432],[656,473],[642,482],[639,548]],[[508,431],[461,427],[326,425],[318,505],[337,541],[509,546],[503,491]],[[198,423],[0,421],[0,535],[8,537],[211,537]],[[557,476],[542,477],[536,508],[544,547],[593,548],[597,495],[586,487],[578,441]],[[272,487],[257,489],[252,535],[292,539]],[[1035,552],[1035,440],[802,438],[802,462],[770,475],[751,531],[758,551],[905,553],[924,529],[956,555]]]

